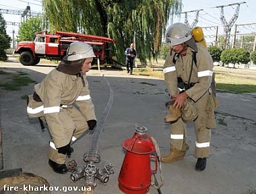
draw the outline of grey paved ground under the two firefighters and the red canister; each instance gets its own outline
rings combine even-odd
[[[43,65],[42,65],[43,66]],[[7,69],[5,68],[7,67]],[[45,73],[53,67],[24,67],[15,59],[0,63],[0,70],[24,71],[32,79],[40,82]],[[131,138],[135,125],[148,128],[160,146],[161,154],[168,152],[169,126],[164,123],[168,96],[164,92],[164,82],[160,79],[127,75],[125,71],[105,69],[101,73],[108,80],[114,92],[113,106],[100,137],[99,151],[102,161],[115,166],[115,174],[107,185],[98,183],[95,193],[121,193],[118,176],[125,152],[122,143]],[[88,73],[92,100],[96,115],[100,119],[108,100],[109,88],[98,70]],[[82,186],[83,180],[71,183],[70,174],[55,174],[48,166],[47,130],[41,131],[36,119],[28,119],[26,102],[21,96],[33,91],[32,84],[20,91],[0,90],[1,127],[3,130],[4,169],[22,168],[44,177],[52,186]],[[196,159],[193,158],[195,135],[192,123],[188,123],[189,151],[183,161],[162,164],[164,194],[249,194],[256,191],[256,106],[255,96],[217,94],[220,106],[217,112],[218,127],[212,130],[211,156],[207,169],[195,172]],[[83,155],[90,148],[92,134],[84,135],[73,148],[79,166],[84,165]],[[54,191],[53,193],[63,193]],[[75,193],[74,191],[69,193]],[[158,193],[153,187],[149,193]]]

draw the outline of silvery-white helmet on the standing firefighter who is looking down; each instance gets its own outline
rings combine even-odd
[[[165,42],[170,46],[182,44],[192,38],[191,30],[185,24],[178,22],[169,26],[165,34]]]

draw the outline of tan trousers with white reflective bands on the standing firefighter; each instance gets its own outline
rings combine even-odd
[[[197,102],[198,117],[193,121],[195,127],[195,158],[207,158],[210,155],[210,139],[211,129],[207,129],[207,114],[205,107],[209,93],[206,92]],[[186,151],[187,143],[187,126],[186,123],[180,118],[175,123],[170,123],[170,150]]]

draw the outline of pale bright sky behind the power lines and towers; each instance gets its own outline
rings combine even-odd
[[[246,3],[243,3],[246,2]],[[0,0],[0,9],[15,9],[24,11],[26,6],[30,5],[31,12],[42,13],[42,3],[40,0]],[[235,1],[235,0],[183,0],[182,11],[188,12],[187,19],[189,24],[193,24],[195,20],[194,10],[199,10],[199,19],[196,26],[210,27],[219,26],[218,34],[224,34],[223,25],[220,20],[221,9],[216,8],[221,5],[230,5],[233,3],[241,3],[238,18],[234,24],[238,24],[237,30],[240,33],[255,33],[256,32],[256,0],[245,0],[245,1]],[[237,5],[224,7],[224,18],[226,22],[230,22],[232,16],[235,13]],[[192,12],[189,12],[192,11]],[[3,13],[3,18],[6,22],[21,22],[20,15],[11,15]],[[185,22],[185,13],[181,13],[180,18],[173,18],[172,22]],[[170,21],[169,21],[170,24]],[[168,25],[169,25],[168,24]],[[250,25],[241,25],[250,24]],[[16,35],[18,32],[18,26],[7,25],[7,34],[13,37],[13,31]],[[231,29],[231,34],[234,34],[234,26]],[[204,34],[214,34],[216,28],[205,28]]]

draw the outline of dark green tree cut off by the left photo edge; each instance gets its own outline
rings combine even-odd
[[[0,61],[6,61],[7,55],[5,49],[10,48],[11,37],[6,34],[5,20],[0,13]]]

